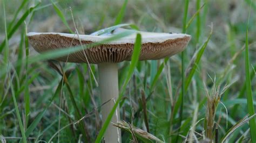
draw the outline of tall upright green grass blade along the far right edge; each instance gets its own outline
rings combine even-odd
[[[252,8],[252,2],[250,6],[250,11],[248,15],[248,23],[247,23],[247,28],[246,28],[246,39],[245,39],[245,76],[246,76],[246,95],[247,95],[247,108],[248,108],[248,113],[250,116],[253,116],[255,111],[254,111],[254,106],[253,106],[253,95],[252,95],[252,85],[251,85],[251,77],[250,77],[250,60],[249,60],[249,49],[248,49],[248,25],[249,25],[249,20],[250,20],[250,15],[251,15],[251,8]],[[251,132],[251,140],[252,142],[256,142],[256,122],[255,118],[252,118],[249,121],[250,125],[250,132]]]

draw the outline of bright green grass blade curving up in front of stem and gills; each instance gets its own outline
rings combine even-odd
[[[114,104],[111,112],[109,113],[109,116],[107,117],[105,123],[103,124],[102,129],[100,129],[99,134],[97,135],[97,138],[96,138],[96,141],[95,141],[97,143],[99,143],[103,139],[106,128],[107,128],[107,126],[109,126],[111,118],[114,115],[114,112],[116,112],[116,109],[117,109],[117,106],[118,106],[119,102],[122,100],[124,91],[126,89],[126,85],[129,83],[130,78],[132,77],[133,71],[136,68],[136,65],[138,63],[141,43],[142,43],[142,35],[137,34],[136,41],[135,41],[134,48],[133,48],[133,53],[132,53],[132,58],[131,58],[131,65],[130,65],[129,71],[127,73],[127,76],[125,78],[122,90],[121,90],[121,92],[120,92],[120,94],[117,98],[117,101]]]

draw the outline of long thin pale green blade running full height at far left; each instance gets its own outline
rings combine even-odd
[[[21,134],[22,134],[22,140],[23,142],[26,142],[26,135],[25,135],[25,129],[23,127],[22,124],[22,119],[21,119],[21,115],[19,114],[19,109],[18,109],[18,104],[16,101],[16,96],[15,96],[15,90],[14,87],[12,85],[12,78],[11,78],[11,74],[10,74],[10,63],[9,63],[9,47],[8,47],[8,34],[7,34],[7,27],[6,27],[6,16],[5,16],[5,0],[3,0],[3,13],[4,13],[4,32],[5,32],[5,54],[4,54],[4,59],[6,59],[6,61],[4,62],[6,64],[6,70],[8,71],[8,78],[9,78],[9,82],[10,82],[10,87],[11,87],[11,95],[12,95],[12,99],[14,101],[14,106],[15,106],[15,111],[16,111],[16,116],[18,118],[18,123],[19,123],[19,129],[21,130]]]

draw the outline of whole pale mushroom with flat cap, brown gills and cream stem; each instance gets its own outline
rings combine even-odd
[[[103,35],[74,35],[67,33],[28,33],[30,44],[37,52],[42,53],[58,48],[68,48],[82,44],[91,44],[110,38],[114,34],[129,31],[124,28],[117,28],[111,33]],[[130,30],[131,31],[131,30]],[[102,103],[109,99],[118,97],[118,67],[117,63],[131,60],[136,33],[142,35],[142,48],[139,60],[163,59],[184,50],[191,37],[187,34],[178,33],[153,33],[134,31],[133,34],[109,41],[105,44],[84,49],[60,58],[58,61],[75,63],[94,63],[98,65],[100,100]],[[114,103],[109,102],[102,108],[102,119],[105,122]],[[119,120],[119,108],[117,116],[112,117],[112,122]],[[108,126],[105,132],[105,142],[117,142],[120,130],[114,126]]]

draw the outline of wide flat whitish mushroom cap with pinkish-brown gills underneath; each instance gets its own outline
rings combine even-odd
[[[114,30],[111,34],[79,35],[79,38],[82,44],[91,44],[110,38],[112,35],[123,31],[129,30],[117,28],[117,30]],[[191,39],[191,36],[187,34],[136,31],[127,37],[86,48],[84,51],[62,56],[55,60],[87,63],[85,53],[89,63],[98,64],[103,62],[117,63],[124,60],[129,61],[131,60],[137,33],[142,35],[142,48],[139,60],[158,60],[177,54],[185,49],[188,41]],[[80,46],[77,34],[30,32],[27,35],[30,44],[39,53],[53,49]]]

